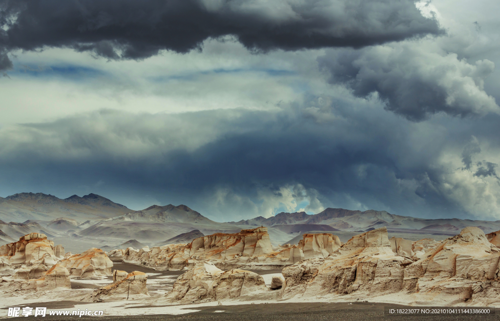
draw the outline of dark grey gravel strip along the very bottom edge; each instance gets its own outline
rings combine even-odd
[[[372,321],[372,320],[481,320],[497,321],[500,315],[495,316],[424,316],[424,317],[389,317],[384,315],[384,307],[398,307],[376,303],[280,303],[280,304],[246,304],[232,306],[201,306],[189,307],[156,307],[143,306],[143,314],[134,316],[111,316],[105,311],[102,317],[50,317],[39,320],[90,320],[100,319],[109,321]],[[88,308],[89,305],[85,306]],[[400,306],[399,306],[400,307]],[[122,308],[123,309],[123,308]],[[125,308],[126,309],[126,308]],[[106,313],[107,312],[107,313]],[[150,314],[154,312],[154,314]],[[23,318],[23,317],[22,317]],[[12,318],[17,320],[20,318]],[[25,320],[25,319],[23,319]],[[32,320],[32,319],[31,319]]]

